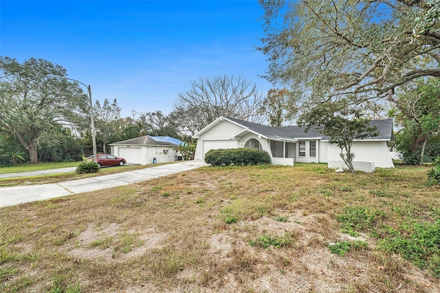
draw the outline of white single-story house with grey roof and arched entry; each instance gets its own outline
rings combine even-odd
[[[379,135],[353,144],[355,169],[357,162],[370,167],[393,168],[386,142],[393,140],[393,120],[372,120]],[[194,135],[197,138],[195,160],[204,160],[210,149],[252,148],[269,153],[272,164],[293,165],[294,162],[329,163],[329,168],[342,166],[340,149],[316,129],[305,127],[270,127],[234,118],[219,117]],[[367,166],[366,170],[370,168]],[[363,167],[362,167],[363,168]],[[362,170],[360,168],[359,170]]]

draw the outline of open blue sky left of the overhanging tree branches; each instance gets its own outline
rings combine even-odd
[[[91,85],[94,100],[169,113],[190,80],[241,75],[272,85],[258,1],[0,1],[0,54],[43,58]]]

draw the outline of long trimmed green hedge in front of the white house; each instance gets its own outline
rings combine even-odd
[[[212,149],[205,155],[212,166],[270,164],[270,156],[256,149]]]

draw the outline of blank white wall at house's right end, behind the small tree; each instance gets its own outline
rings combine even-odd
[[[355,142],[352,146],[352,152],[355,154],[353,162],[375,162],[376,168],[394,168],[386,141]],[[327,162],[342,161],[339,154],[338,146],[329,144]]]

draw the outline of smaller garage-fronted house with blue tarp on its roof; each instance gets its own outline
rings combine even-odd
[[[176,148],[184,144],[177,138],[169,136],[144,135],[122,142],[109,144],[111,154],[124,158],[127,164],[153,164],[181,160]]]

